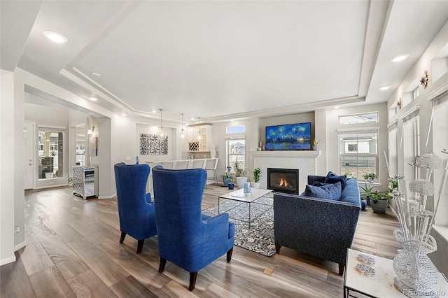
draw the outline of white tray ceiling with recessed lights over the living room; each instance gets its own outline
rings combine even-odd
[[[114,113],[158,119],[162,108],[172,120],[207,122],[386,102],[448,20],[448,1],[1,0],[0,8],[1,69],[97,97]],[[68,42],[52,43],[45,30]],[[45,97],[37,95],[28,100]]]

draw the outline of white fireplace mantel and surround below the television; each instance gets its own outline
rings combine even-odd
[[[251,151],[253,166],[261,170],[261,187],[267,187],[267,168],[298,169],[299,190],[307,185],[308,175],[316,175],[316,159],[321,151]]]

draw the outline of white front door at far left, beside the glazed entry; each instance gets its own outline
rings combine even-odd
[[[25,148],[25,190],[34,188],[34,122],[25,121],[23,148]]]

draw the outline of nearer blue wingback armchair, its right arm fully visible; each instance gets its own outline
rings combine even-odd
[[[235,241],[235,225],[227,213],[215,217],[201,213],[206,179],[204,169],[153,168],[159,272],[165,270],[167,260],[190,272],[190,291],[197,271],[225,253],[230,262]]]

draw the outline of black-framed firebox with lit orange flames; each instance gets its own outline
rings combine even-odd
[[[299,170],[267,168],[267,189],[299,194]]]

